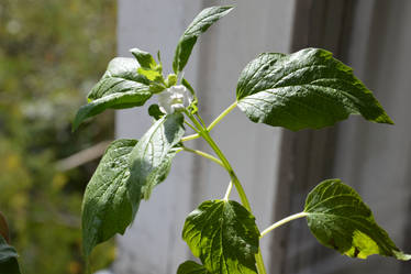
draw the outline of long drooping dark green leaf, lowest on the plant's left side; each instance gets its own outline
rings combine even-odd
[[[136,140],[116,140],[105,150],[82,200],[86,256],[99,243],[123,234],[138,209],[140,189],[130,184],[129,161]]]

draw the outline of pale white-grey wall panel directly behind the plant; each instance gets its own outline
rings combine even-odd
[[[235,100],[240,72],[251,59],[262,52],[289,48],[293,1],[231,3],[236,9],[200,39],[186,69],[199,94],[200,111],[207,122]],[[120,0],[119,54],[130,56],[127,50],[134,46],[152,53],[160,50],[165,72],[171,70],[170,61],[180,34],[202,6],[212,4],[221,1]],[[146,110],[119,111],[116,136],[140,138],[149,123]],[[249,122],[238,110],[212,132],[243,182],[260,229],[273,222],[280,133],[278,129]],[[187,145],[210,151],[200,141]],[[190,254],[180,239],[186,215],[204,199],[221,198],[227,183],[229,176],[214,163],[178,155],[167,180],[154,190],[149,201],[142,202],[133,227],[118,238],[114,272],[176,273],[178,264]],[[267,259],[269,242],[269,237],[263,240]]]

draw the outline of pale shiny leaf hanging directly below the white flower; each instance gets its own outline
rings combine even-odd
[[[154,186],[162,183],[177,153],[185,128],[184,116],[174,113],[156,121],[133,149],[130,157],[131,182],[148,199]]]

